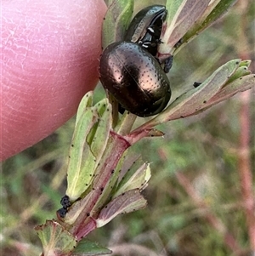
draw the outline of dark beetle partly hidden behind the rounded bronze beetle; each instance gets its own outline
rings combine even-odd
[[[163,5],[152,5],[140,10],[128,26],[124,40],[138,43],[156,56],[157,46],[161,43],[162,23],[166,16],[167,10]]]

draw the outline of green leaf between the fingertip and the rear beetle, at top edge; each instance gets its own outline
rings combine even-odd
[[[103,23],[102,45],[122,41],[133,14],[133,0],[113,0]]]

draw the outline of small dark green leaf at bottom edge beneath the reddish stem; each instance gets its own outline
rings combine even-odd
[[[78,246],[75,248],[71,256],[93,256],[93,255],[103,255],[110,254],[111,250],[102,247],[97,242],[92,242],[87,239],[82,239]]]

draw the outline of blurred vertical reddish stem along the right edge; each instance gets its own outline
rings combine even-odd
[[[238,11],[241,12],[241,30],[238,43],[237,51],[239,56],[243,60],[251,59],[248,54],[250,51],[248,49],[248,41],[246,37],[246,12],[248,11],[248,2],[240,1],[236,7]],[[244,48],[243,46],[246,45]],[[240,117],[240,145],[238,151],[238,170],[241,180],[241,201],[244,202],[245,214],[246,214],[246,225],[248,230],[248,236],[250,241],[250,246],[252,253],[255,254],[255,199],[252,192],[252,164],[251,164],[251,151],[250,151],[250,139],[251,139],[251,112],[250,112],[250,101],[251,101],[251,91],[246,91],[241,94],[241,108],[239,112]]]

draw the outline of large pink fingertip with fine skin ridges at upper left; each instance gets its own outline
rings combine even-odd
[[[59,128],[98,82],[103,0],[3,1],[0,160]]]

